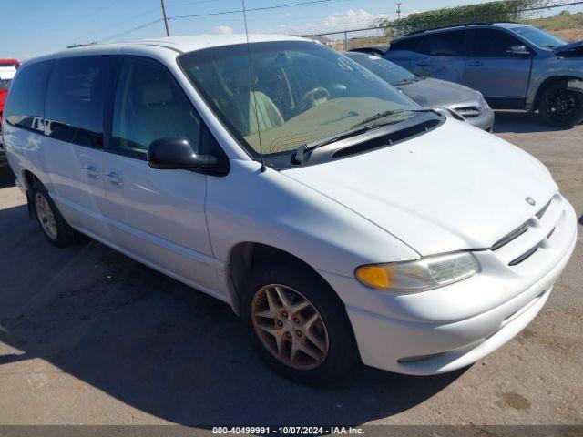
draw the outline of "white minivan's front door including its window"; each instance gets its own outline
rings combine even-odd
[[[149,144],[160,138],[186,137],[198,151],[202,126],[164,66],[124,56],[104,154],[105,212],[114,242],[134,258],[213,294],[217,266],[205,214],[206,176],[154,169],[147,162]]]

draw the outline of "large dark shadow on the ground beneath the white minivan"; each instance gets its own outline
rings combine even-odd
[[[139,410],[203,428],[357,425],[404,412],[464,372],[361,368],[329,385],[294,384],[255,356],[228,305],[95,241],[54,249],[25,220],[26,207],[14,209],[0,210],[0,222],[23,216],[18,232],[0,239],[8,278],[0,341],[21,352],[0,355],[0,366],[39,358]]]

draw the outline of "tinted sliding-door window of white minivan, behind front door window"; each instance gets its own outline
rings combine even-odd
[[[46,92],[46,134],[103,147],[105,98],[115,56],[58,59]]]

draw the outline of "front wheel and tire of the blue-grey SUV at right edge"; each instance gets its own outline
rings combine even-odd
[[[583,92],[568,89],[568,83],[557,82],[543,91],[538,114],[551,126],[573,127],[583,121]]]

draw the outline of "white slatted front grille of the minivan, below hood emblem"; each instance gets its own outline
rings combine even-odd
[[[490,249],[506,265],[518,266],[546,247],[564,214],[563,199],[557,193],[531,219],[496,241]]]

